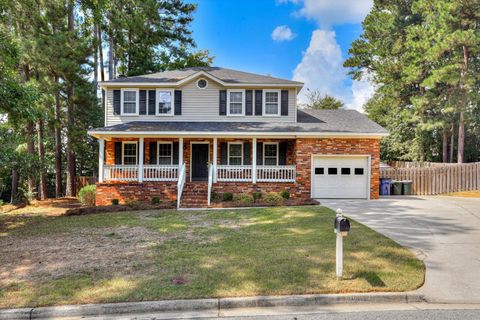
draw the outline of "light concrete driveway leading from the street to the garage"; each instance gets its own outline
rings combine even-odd
[[[419,291],[429,302],[480,303],[480,198],[320,201],[334,210],[342,208],[346,216],[411,248],[424,260],[426,279]]]

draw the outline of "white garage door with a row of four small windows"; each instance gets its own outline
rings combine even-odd
[[[368,157],[316,156],[312,198],[368,198]]]

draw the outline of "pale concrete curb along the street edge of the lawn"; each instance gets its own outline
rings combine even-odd
[[[293,296],[258,296],[245,298],[162,300],[146,302],[121,302],[106,304],[67,305],[0,310],[3,319],[48,319],[53,317],[102,316],[132,313],[174,311],[222,310],[234,308],[311,306],[342,303],[411,303],[425,301],[422,294],[414,292],[312,294]]]

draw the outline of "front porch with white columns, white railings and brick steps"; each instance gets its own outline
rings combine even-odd
[[[195,198],[207,206],[212,192],[291,190],[296,182],[295,139],[111,137],[99,146],[99,185],[110,200],[126,198],[121,188],[128,198],[161,196],[177,207]]]

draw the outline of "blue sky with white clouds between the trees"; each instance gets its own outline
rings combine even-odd
[[[198,5],[192,24],[198,49],[214,65],[305,83],[362,111],[373,93],[352,81],[343,61],[373,0],[188,0]]]

